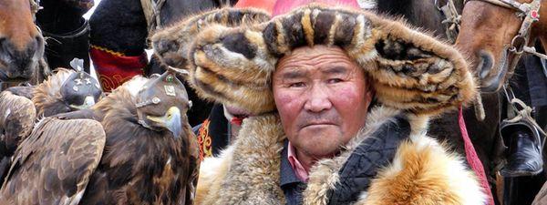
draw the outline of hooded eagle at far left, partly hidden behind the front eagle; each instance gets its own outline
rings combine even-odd
[[[0,94],[0,183],[20,140],[36,118],[89,108],[102,96],[98,81],[82,71],[58,68],[34,87],[9,87]]]

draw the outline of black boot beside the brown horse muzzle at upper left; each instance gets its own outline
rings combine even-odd
[[[71,67],[74,58],[84,60],[89,73],[89,25],[82,17],[94,5],[93,0],[41,0],[36,25],[46,38],[49,67]]]

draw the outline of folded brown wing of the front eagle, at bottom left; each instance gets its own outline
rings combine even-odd
[[[43,119],[16,150],[0,204],[77,204],[104,144],[97,121]]]

